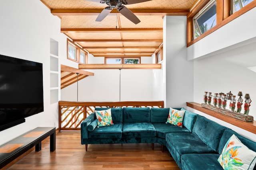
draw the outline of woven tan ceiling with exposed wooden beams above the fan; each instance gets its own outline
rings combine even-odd
[[[87,0],[41,0],[61,19],[61,32],[94,57],[151,57],[163,42],[164,16],[186,16],[197,0],[151,0],[125,5],[134,24],[116,9],[95,21],[107,4]]]

